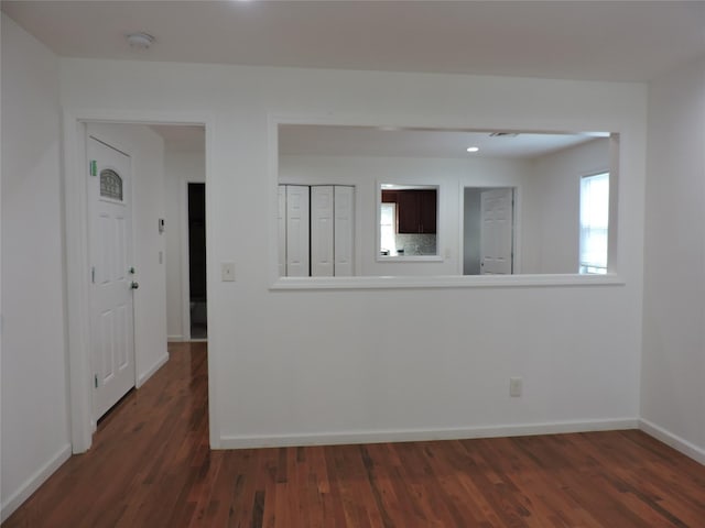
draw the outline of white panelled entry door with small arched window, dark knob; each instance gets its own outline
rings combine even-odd
[[[94,418],[134,386],[130,157],[88,139],[90,350]]]

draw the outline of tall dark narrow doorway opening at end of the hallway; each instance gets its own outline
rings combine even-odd
[[[206,184],[188,183],[188,312],[191,339],[208,338]]]

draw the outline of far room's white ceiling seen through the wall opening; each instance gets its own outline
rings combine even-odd
[[[489,134],[489,131],[282,124],[279,152],[285,155],[527,160],[608,135],[520,133],[516,138],[491,138]],[[469,154],[468,146],[477,146],[479,151]]]

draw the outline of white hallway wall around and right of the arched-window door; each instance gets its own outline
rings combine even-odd
[[[132,232],[134,245],[134,362],[137,386],[169,360],[166,352],[166,234],[164,141],[149,127],[91,123],[100,139],[123,150],[132,163]]]

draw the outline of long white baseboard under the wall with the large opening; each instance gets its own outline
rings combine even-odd
[[[457,429],[409,429],[388,431],[348,431],[314,435],[271,435],[220,437],[218,449],[283,448],[292,446],[335,446],[344,443],[413,442],[459,440],[471,438],[523,437],[563,432],[610,431],[637,429],[637,418],[556,421],[516,426],[470,427]]]

